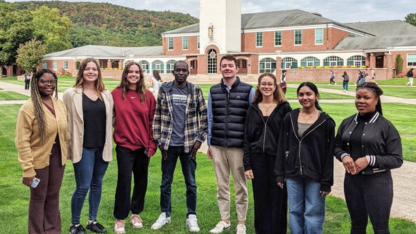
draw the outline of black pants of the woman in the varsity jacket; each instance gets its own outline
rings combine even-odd
[[[346,173],[344,192],[351,217],[351,233],[365,234],[368,217],[374,234],[390,233],[388,220],[393,201],[390,171],[369,175]]]

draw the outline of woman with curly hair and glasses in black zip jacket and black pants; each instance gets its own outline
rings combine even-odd
[[[281,122],[291,111],[275,75],[259,76],[244,131],[244,171],[252,179],[256,233],[285,233],[287,193],[275,181],[275,159]]]

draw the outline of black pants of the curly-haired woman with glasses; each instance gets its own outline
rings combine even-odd
[[[275,155],[252,154],[254,228],[257,234],[286,234],[288,194],[277,186]]]

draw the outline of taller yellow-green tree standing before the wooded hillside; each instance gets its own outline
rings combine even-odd
[[[69,42],[71,20],[60,15],[57,8],[41,6],[33,13],[33,36],[44,42],[46,53],[64,51],[72,48]]]

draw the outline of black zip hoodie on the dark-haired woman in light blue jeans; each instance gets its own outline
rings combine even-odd
[[[300,109],[295,109],[284,118],[277,146],[276,181],[307,177],[321,183],[321,191],[330,192],[333,185],[335,122],[321,112],[318,120],[300,138],[297,134],[299,113]]]

